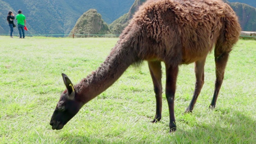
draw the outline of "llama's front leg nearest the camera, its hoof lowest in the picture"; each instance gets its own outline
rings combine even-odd
[[[178,66],[169,68],[166,66],[166,100],[168,102],[170,115],[170,132],[176,131],[176,123],[174,117],[174,95],[176,90],[176,80],[178,75]]]

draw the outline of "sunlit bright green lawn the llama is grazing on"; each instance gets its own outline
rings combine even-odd
[[[150,122],[156,100],[146,62],[130,66],[62,130],[52,130],[50,118],[65,89],[61,73],[77,84],[100,66],[117,40],[0,36],[0,144],[255,143],[255,40],[239,40],[231,52],[215,110],[208,109],[215,81],[213,53],[206,60],[205,83],[191,114],[182,113],[194,91],[194,64],[180,66],[174,133],[169,133],[165,91],[162,120]]]

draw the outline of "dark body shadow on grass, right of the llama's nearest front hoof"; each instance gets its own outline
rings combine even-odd
[[[198,122],[192,130],[178,129],[175,135],[179,142],[192,143],[246,143],[256,140],[256,121],[242,112],[220,109],[216,113],[216,121]]]

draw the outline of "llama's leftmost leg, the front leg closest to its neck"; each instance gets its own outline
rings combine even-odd
[[[162,118],[162,70],[160,61],[148,61],[149,71],[154,84],[156,94],[156,115],[151,122],[156,123]]]

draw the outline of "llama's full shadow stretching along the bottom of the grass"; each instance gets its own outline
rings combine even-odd
[[[186,125],[184,128],[178,126],[177,132],[168,134],[167,132],[152,132],[156,136],[148,135],[146,132],[144,137],[147,143],[254,143],[256,140],[256,121],[238,111],[230,109],[219,109],[213,112],[215,117],[213,122],[195,122],[194,126],[188,126],[187,122],[180,122]],[[215,114],[216,113],[216,114]],[[193,113],[192,113],[193,115]],[[166,126],[165,123],[160,124],[160,127]],[[159,129],[166,130],[167,128]],[[129,130],[129,129],[127,129]],[[153,126],[152,126],[152,131]],[[93,130],[92,130],[93,131]],[[96,130],[98,131],[98,130]],[[132,133],[132,132],[131,132]],[[138,134],[138,133],[137,133]],[[116,136],[100,136],[97,138],[95,132],[93,136],[84,136],[81,133],[65,133],[62,139],[67,144],[72,143],[138,143],[143,140],[122,138],[121,135]],[[132,134],[131,134],[132,135]],[[147,138],[148,137],[148,138]]]

